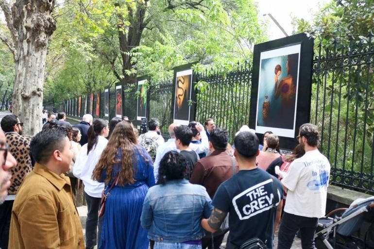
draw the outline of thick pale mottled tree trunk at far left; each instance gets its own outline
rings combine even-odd
[[[56,29],[53,7],[54,0],[17,0],[12,7],[18,31],[13,112],[30,136],[42,127],[44,70],[48,43]]]

